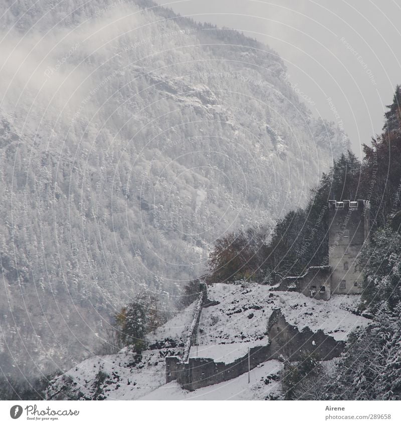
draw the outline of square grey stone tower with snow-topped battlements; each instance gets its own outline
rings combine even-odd
[[[363,273],[356,265],[356,256],[369,235],[370,202],[331,200],[328,208],[331,293],[360,293]]]

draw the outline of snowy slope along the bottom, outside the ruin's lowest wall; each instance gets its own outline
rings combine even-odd
[[[141,361],[132,354],[90,358],[57,378],[48,388],[50,399],[182,400],[265,399],[279,390],[278,372],[283,365],[270,360],[248,374],[227,382],[182,389],[175,381],[165,383],[164,358],[157,350],[143,353]],[[100,373],[99,373],[100,372]]]

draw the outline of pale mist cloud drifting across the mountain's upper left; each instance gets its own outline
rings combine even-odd
[[[82,13],[74,27],[61,22],[48,28],[38,20],[25,34],[17,28],[0,32],[0,107],[14,117],[19,133],[37,132],[41,122],[69,126],[85,99],[86,116],[98,109],[101,93],[90,101],[88,93],[110,73],[103,64],[116,57],[120,38],[138,22],[135,7],[109,6],[90,19]]]

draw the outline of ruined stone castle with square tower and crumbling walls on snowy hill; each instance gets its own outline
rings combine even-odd
[[[332,294],[360,293],[363,275],[357,256],[369,235],[369,215],[369,201],[328,201],[328,264],[309,267],[302,276],[287,276],[275,289],[298,291],[308,297],[323,300],[328,300]],[[271,297],[274,297],[273,293],[264,299],[265,308]],[[205,286],[199,294],[183,355],[165,358],[166,383],[176,380],[182,388],[193,391],[238,377],[268,360],[297,361],[305,352],[313,353],[319,360],[329,360],[339,357],[344,350],[346,335],[334,337],[328,334],[327,329],[312,330],[313,326],[305,326],[305,316],[298,324],[297,318],[291,321],[285,317],[281,308],[274,308],[267,324],[268,344],[249,346],[247,354],[239,355],[229,363],[209,357],[190,356],[190,347],[197,341],[203,307],[215,305],[212,302],[206,303],[207,299]],[[242,309],[238,313],[244,314]],[[336,326],[335,323],[333,325]]]

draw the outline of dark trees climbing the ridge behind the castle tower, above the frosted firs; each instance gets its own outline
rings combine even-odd
[[[273,229],[257,226],[218,239],[209,257],[208,281],[268,281],[272,273],[298,275],[309,266],[328,264],[329,199],[369,200],[372,238],[390,223],[390,228],[396,227],[401,209],[400,100],[397,87],[383,131],[372,138],[371,146],[363,145],[362,161],[350,150],[334,160],[311,189],[306,207],[289,211]]]

